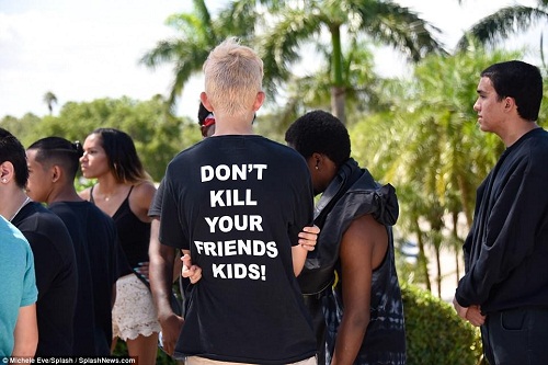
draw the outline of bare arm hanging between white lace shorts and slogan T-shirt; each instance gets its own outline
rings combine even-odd
[[[158,320],[162,327],[163,349],[168,354],[172,355],[183,326],[183,319],[173,312],[170,300],[175,250],[160,243],[158,239],[159,229],[160,220],[158,218],[152,219],[149,247],[150,290],[158,310]]]

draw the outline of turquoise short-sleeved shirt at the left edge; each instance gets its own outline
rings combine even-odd
[[[11,356],[19,309],[38,296],[34,258],[25,237],[0,216],[0,358]]]

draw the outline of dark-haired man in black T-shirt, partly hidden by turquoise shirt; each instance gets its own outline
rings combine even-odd
[[[21,230],[34,255],[38,288],[36,355],[72,355],[72,319],[78,289],[72,240],[58,216],[26,196],[28,168],[25,149],[2,128],[0,161],[0,215]]]

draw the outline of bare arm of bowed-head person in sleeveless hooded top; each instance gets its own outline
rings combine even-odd
[[[344,312],[331,364],[353,364],[370,320],[372,276],[388,249],[386,227],[362,216],[344,232],[340,259]]]

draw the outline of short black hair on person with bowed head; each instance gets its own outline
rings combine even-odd
[[[302,157],[326,155],[339,168],[350,158],[349,130],[338,117],[324,111],[312,111],[297,118],[285,133],[285,140]]]

